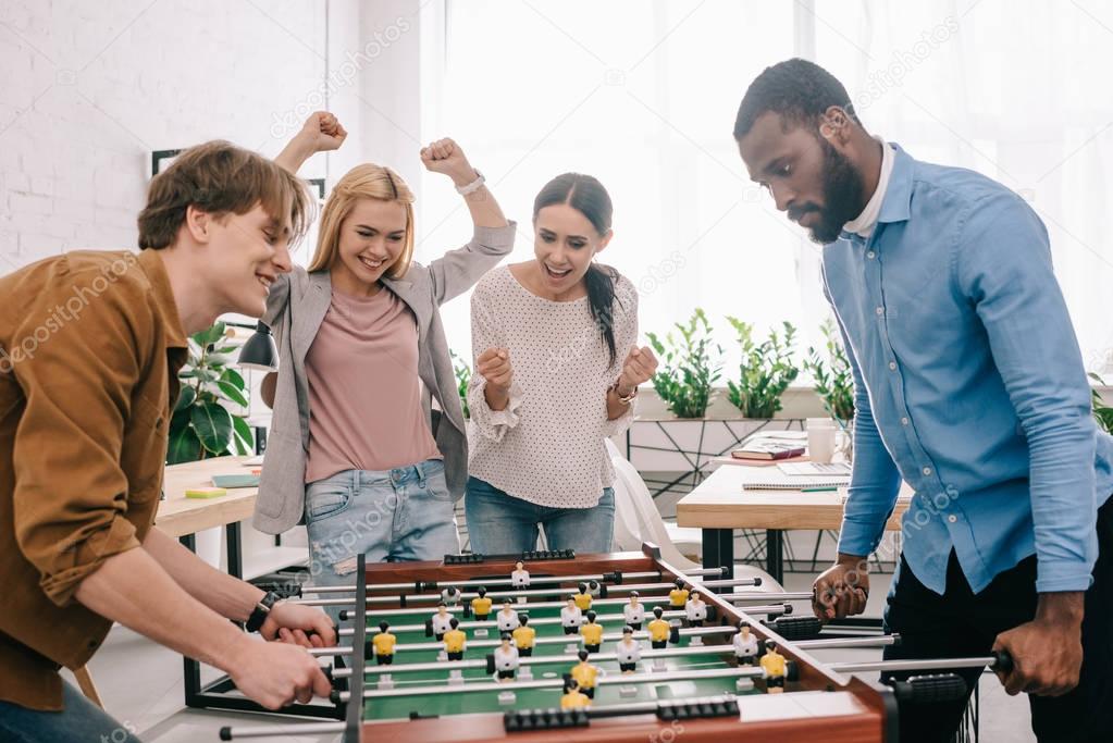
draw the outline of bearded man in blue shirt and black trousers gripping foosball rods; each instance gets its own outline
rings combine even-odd
[[[755,79],[735,125],[750,177],[824,245],[855,379],[854,475],[816,614],[864,610],[904,479],[885,613],[903,642],[886,657],[1007,650],[1002,681],[1030,694],[1041,741],[1113,741],[1113,439],[1047,231],[1004,186],[871,137],[849,100],[792,59]],[[900,740],[949,740],[964,706],[902,710]]]

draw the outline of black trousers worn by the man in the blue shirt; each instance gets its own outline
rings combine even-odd
[[[1097,544],[1094,582],[1085,596],[1078,686],[1064,696],[1028,696],[1032,730],[1041,743],[1113,741],[1113,499],[1097,512]],[[885,658],[988,655],[998,634],[1035,616],[1035,582],[1033,555],[975,594],[952,551],[946,593],[939,596],[913,575],[902,556],[899,577],[885,610],[886,631],[899,633],[900,644],[886,647]],[[971,692],[982,676],[981,668],[956,673]],[[917,674],[893,673],[883,678],[909,675]],[[902,743],[946,743],[958,729],[966,702],[902,704]]]

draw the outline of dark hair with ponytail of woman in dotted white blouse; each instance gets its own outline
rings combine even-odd
[[[579,172],[565,172],[556,176],[541,189],[533,200],[533,219],[545,207],[554,204],[567,204],[591,222],[600,236],[611,231],[611,216],[614,207],[611,197],[592,176]],[[588,304],[591,307],[591,319],[595,321],[607,350],[610,354],[610,365],[618,358],[614,343],[614,283],[619,274],[613,268],[592,264],[583,280],[588,285]]]

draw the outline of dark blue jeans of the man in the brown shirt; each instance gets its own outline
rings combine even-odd
[[[4,743],[139,743],[125,723],[110,717],[65,681],[61,712],[40,712],[0,702],[0,740]]]

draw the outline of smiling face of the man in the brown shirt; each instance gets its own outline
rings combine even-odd
[[[204,224],[207,285],[220,313],[260,317],[278,274],[290,270],[289,222],[283,224],[260,206],[245,214],[214,217],[194,211],[187,219]]]

